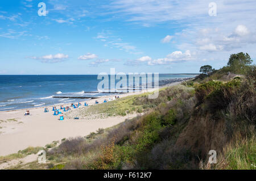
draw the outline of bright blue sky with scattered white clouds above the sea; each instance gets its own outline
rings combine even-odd
[[[221,68],[232,53],[254,60],[255,7],[254,0],[1,1],[0,74],[198,73],[202,65]]]

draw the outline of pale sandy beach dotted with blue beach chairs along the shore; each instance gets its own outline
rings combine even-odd
[[[167,86],[179,83],[181,82],[174,82]],[[120,94],[119,97],[123,98],[152,91],[155,91],[155,89]],[[101,104],[104,99],[114,101],[114,95],[102,96],[99,99],[88,100],[86,103],[93,106],[96,100]],[[72,115],[75,116],[76,112],[85,107],[84,102],[81,102],[81,104],[82,106],[79,108],[71,108]],[[64,106],[70,106],[70,104]],[[47,107],[49,112],[46,113],[44,108],[46,107],[30,108],[31,115],[28,116],[24,116],[26,110],[0,112],[0,156],[17,153],[28,146],[45,146],[62,138],[86,136],[90,132],[95,132],[98,128],[112,127],[128,118],[128,116],[114,116],[93,120],[69,118],[60,121],[59,116],[53,115],[52,106]],[[60,105],[57,105],[56,108],[60,109]],[[135,116],[137,114],[133,113],[129,115],[129,118]]]

